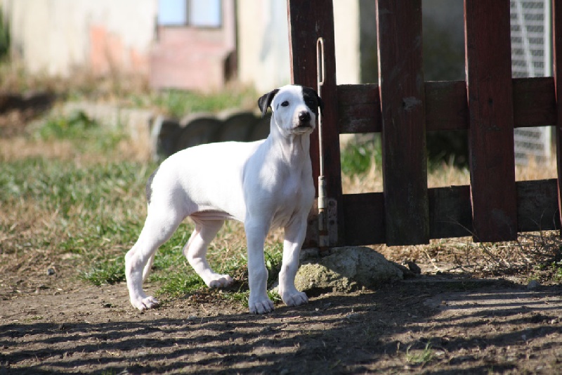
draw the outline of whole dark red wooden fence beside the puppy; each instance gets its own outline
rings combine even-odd
[[[509,0],[465,0],[466,81],[424,81],[421,0],[377,0],[379,82],[337,85],[330,0],[289,0],[292,81],[316,86],[316,41],[325,40],[322,99],[331,245],[424,244],[472,235],[516,239],[559,230],[562,191],[562,6],[552,0],[554,77],[511,78]],[[424,41],[431,43],[432,41]],[[558,119],[561,119],[558,121]],[[556,126],[558,178],[517,181],[514,128]],[[468,129],[471,183],[427,187],[426,132]],[[384,192],[344,195],[339,134],[381,132]],[[311,157],[318,176],[318,136]],[[311,216],[307,245],[318,244]]]

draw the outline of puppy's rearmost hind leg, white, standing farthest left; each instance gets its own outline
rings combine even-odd
[[[156,250],[166,242],[180,225],[183,217],[177,212],[167,212],[165,218],[157,213],[147,216],[141,235],[125,256],[125,277],[131,305],[138,310],[158,305],[156,298],[143,291],[143,277],[148,275]]]

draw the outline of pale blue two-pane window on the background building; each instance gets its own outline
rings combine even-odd
[[[159,0],[158,25],[221,27],[221,0]]]

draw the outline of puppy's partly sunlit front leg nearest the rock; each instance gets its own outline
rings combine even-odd
[[[306,236],[306,216],[295,220],[285,228],[283,242],[283,263],[279,272],[279,294],[287,306],[308,303],[308,297],[294,286],[294,277],[299,269],[299,255]]]

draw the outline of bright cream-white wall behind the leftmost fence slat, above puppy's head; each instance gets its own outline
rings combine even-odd
[[[238,77],[260,92],[288,84],[287,0],[238,1]],[[334,0],[336,79],[360,81],[358,0]]]

